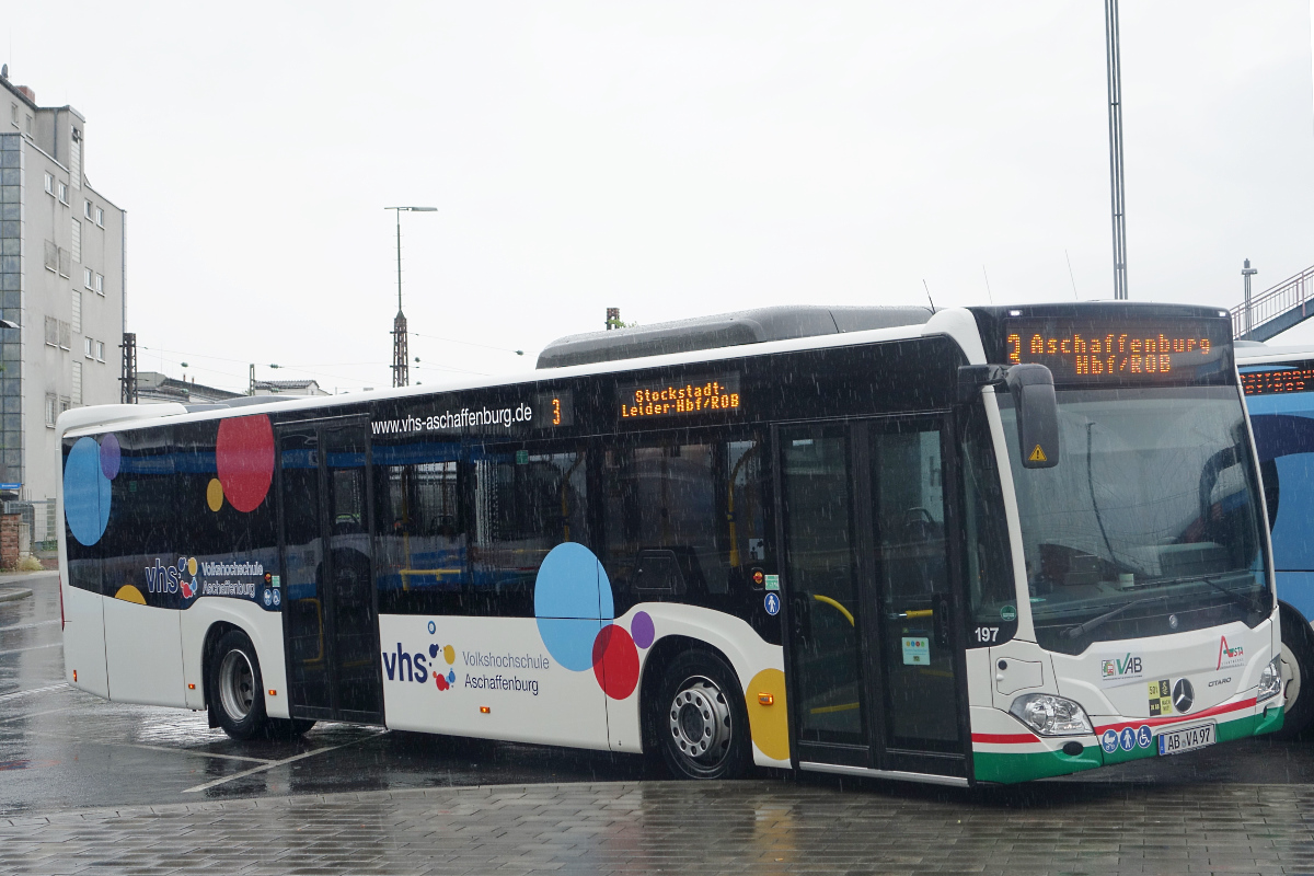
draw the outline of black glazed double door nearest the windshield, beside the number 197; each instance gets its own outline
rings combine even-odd
[[[947,435],[943,418],[777,431],[788,701],[804,767],[966,780]]]

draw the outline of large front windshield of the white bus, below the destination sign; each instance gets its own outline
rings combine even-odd
[[[1260,493],[1236,387],[1056,395],[1053,469],[1022,468],[1012,399],[999,395],[1038,642],[1076,654],[1267,617]]]

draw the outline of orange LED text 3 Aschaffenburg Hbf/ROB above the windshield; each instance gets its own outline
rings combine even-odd
[[[1173,356],[1183,353],[1209,355],[1213,344],[1208,338],[1168,338],[1154,335],[1138,338],[1126,334],[1109,334],[1102,338],[1083,338],[1081,335],[1039,335],[1031,334],[1026,340],[1021,335],[1008,336],[1008,361],[1041,361],[1046,356],[1060,356],[1071,361],[1077,374],[1162,374],[1172,370]]]

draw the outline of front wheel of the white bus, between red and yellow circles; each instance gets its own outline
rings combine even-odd
[[[744,691],[719,654],[685,651],[673,659],[656,717],[662,759],[677,779],[735,779],[748,768]]]

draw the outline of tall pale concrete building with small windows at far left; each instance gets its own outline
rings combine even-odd
[[[120,401],[125,213],[87,179],[87,123],[0,70],[0,496],[59,477],[55,418]],[[17,490],[13,485],[21,485]],[[3,490],[9,487],[9,490]]]

